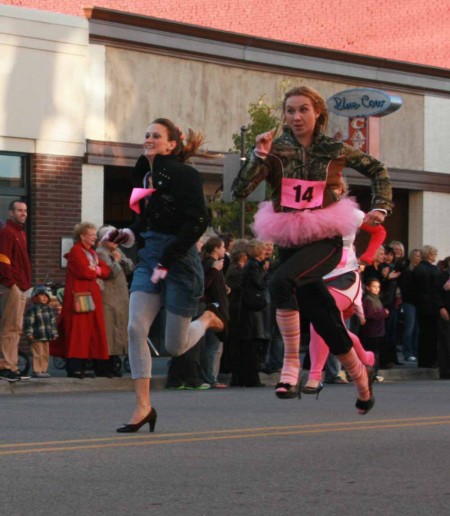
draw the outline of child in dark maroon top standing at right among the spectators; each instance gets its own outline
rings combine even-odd
[[[365,324],[361,326],[360,337],[364,348],[375,354],[376,369],[379,367],[380,341],[386,334],[384,320],[389,311],[380,301],[380,281],[369,278],[366,282],[366,293],[363,298]]]

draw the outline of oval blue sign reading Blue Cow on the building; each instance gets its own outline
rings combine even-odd
[[[402,106],[402,99],[373,88],[354,88],[336,93],[327,100],[329,111],[349,118],[385,116]]]

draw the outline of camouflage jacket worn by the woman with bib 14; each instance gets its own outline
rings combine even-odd
[[[275,139],[266,159],[258,158],[253,149],[233,183],[237,199],[247,197],[266,180],[271,188],[275,211],[290,211],[280,205],[281,180],[285,178],[308,181],[326,181],[322,208],[339,201],[333,191],[339,185],[344,167],[353,168],[371,180],[372,208],[392,210],[392,190],[386,167],[362,151],[333,140],[323,134],[314,138],[312,145],[303,147],[285,126],[282,135]]]

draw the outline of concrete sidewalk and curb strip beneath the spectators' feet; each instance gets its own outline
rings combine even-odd
[[[168,357],[153,359],[152,389],[164,389],[166,386],[166,372]],[[9,383],[0,381],[0,395],[21,395],[21,394],[42,394],[42,393],[64,393],[64,392],[104,392],[104,391],[132,391],[132,380],[129,373],[122,378],[67,378],[63,370],[51,368],[50,378],[31,378],[30,380]],[[437,369],[419,369],[416,364],[405,362],[402,366],[395,366],[392,369],[380,370],[380,376],[384,382],[401,382],[412,380],[433,380],[439,379]],[[271,375],[260,373],[262,383],[267,386],[275,386],[279,380],[279,374]],[[229,383],[230,375],[221,375],[220,381]]]

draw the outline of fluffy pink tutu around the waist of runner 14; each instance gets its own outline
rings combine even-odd
[[[275,213],[270,201],[260,203],[253,232],[259,240],[281,247],[302,246],[336,235],[355,234],[361,221],[355,216],[358,203],[346,197],[319,210]]]

